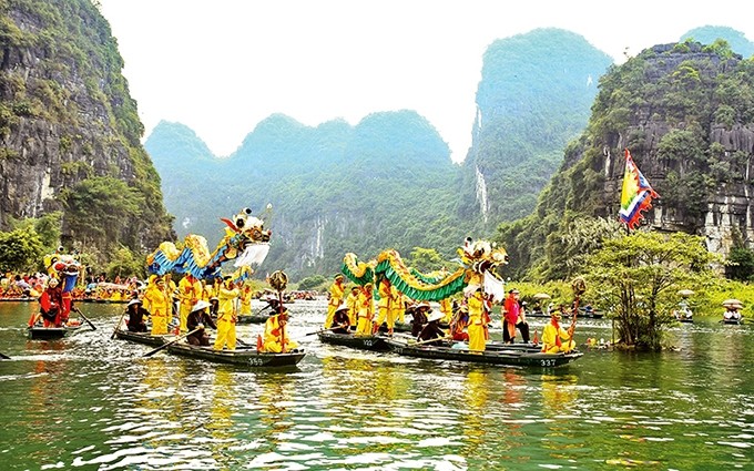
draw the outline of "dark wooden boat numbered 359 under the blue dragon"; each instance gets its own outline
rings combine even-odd
[[[182,357],[197,358],[217,364],[241,365],[247,367],[287,367],[297,365],[306,355],[303,349],[286,354],[261,354],[256,347],[237,347],[235,350],[214,350],[185,342],[173,344],[167,351]]]

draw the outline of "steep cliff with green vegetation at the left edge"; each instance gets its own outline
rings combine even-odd
[[[149,248],[172,237],[123,60],[96,8],[16,0],[0,3],[0,228],[63,209],[67,242],[95,242],[72,221],[62,191],[114,178],[143,205],[122,227],[93,231],[105,233],[98,242]],[[96,226],[98,215],[91,219]]]

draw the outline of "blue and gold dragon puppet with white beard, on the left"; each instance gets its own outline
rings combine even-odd
[[[155,275],[190,273],[197,279],[213,279],[221,276],[223,263],[235,260],[238,269],[233,277],[245,280],[254,273],[251,267],[267,256],[272,235],[264,229],[264,223],[251,214],[251,209],[244,208],[233,219],[222,218],[227,226],[225,235],[212,253],[206,239],[195,234],[185,237],[182,249],[163,242],[146,257],[149,272]]]

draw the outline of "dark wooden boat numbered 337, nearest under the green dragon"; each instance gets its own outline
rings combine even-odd
[[[387,339],[386,341],[393,351],[408,357],[516,367],[554,368],[575,361],[583,355],[575,350],[569,354],[542,354],[516,348],[495,348],[482,352],[471,352],[467,349],[412,345],[410,340],[401,338]]]

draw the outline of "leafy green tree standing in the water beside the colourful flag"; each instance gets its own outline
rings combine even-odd
[[[594,297],[612,306],[619,344],[658,350],[664,327],[673,321],[676,291],[716,279],[714,262],[720,259],[702,237],[635,232],[604,240],[588,259],[587,278]]]

